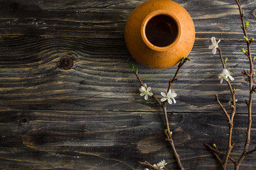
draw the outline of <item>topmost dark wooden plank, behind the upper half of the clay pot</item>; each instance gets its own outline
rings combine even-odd
[[[129,14],[144,1],[1,0],[0,35],[123,38]],[[212,33],[233,38],[240,33],[239,19],[230,19],[239,18],[235,1],[176,2],[191,13],[197,37]],[[243,4],[247,21],[255,23],[255,1]]]

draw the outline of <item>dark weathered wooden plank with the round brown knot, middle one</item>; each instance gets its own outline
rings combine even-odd
[[[210,40],[196,40],[192,61],[181,70],[180,80],[173,86],[178,102],[169,111],[218,113],[215,94],[228,106],[228,87],[218,79],[221,64],[208,45]],[[235,77],[238,113],[246,113],[247,85],[240,73],[247,68],[240,52],[243,42],[223,40],[220,45]],[[176,67],[149,69],[138,64],[127,52],[124,39],[6,37],[1,38],[0,51],[1,108],[159,111],[153,99],[144,101],[139,96],[139,83],[127,64],[139,67],[142,79],[157,95],[166,91],[176,71]],[[71,69],[59,66],[63,55],[73,57]]]

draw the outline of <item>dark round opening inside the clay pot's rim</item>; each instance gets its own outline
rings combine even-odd
[[[166,47],[178,37],[178,26],[174,18],[161,14],[146,23],[145,34],[152,45]]]

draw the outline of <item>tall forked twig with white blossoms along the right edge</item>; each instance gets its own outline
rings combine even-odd
[[[240,0],[235,0],[235,1],[238,4],[238,8],[240,11],[240,19],[242,21],[241,28],[244,33],[245,42],[247,44],[247,50],[242,48],[241,51],[247,56],[247,58],[250,62],[250,71],[245,70],[245,69],[243,69],[243,71],[242,71],[242,74],[244,74],[247,77],[246,81],[248,81],[250,84],[249,85],[250,96],[249,96],[249,100],[245,100],[245,103],[247,104],[247,108],[248,108],[248,124],[247,124],[247,131],[246,131],[247,137],[246,137],[245,147],[244,147],[243,152],[240,155],[240,158],[238,159],[238,161],[235,161],[235,159],[230,157],[231,150],[233,149],[233,147],[235,145],[235,142],[233,142],[233,144],[232,144],[232,134],[233,134],[233,120],[234,120],[235,111],[236,111],[235,102],[237,100],[235,99],[235,89],[232,88],[229,79],[231,81],[233,81],[234,79],[233,79],[233,77],[230,76],[230,72],[228,71],[228,69],[226,69],[226,62],[228,61],[228,59],[225,58],[225,60],[223,60],[222,52],[220,50],[220,47],[218,47],[218,43],[220,42],[220,40],[218,40],[218,42],[216,42],[215,38],[213,37],[211,39],[213,45],[210,45],[210,47],[209,47],[209,49],[213,49],[212,50],[213,55],[215,55],[216,50],[218,50],[218,52],[219,52],[220,60],[223,64],[223,72],[219,75],[220,84],[222,84],[223,79],[225,79],[225,81],[227,82],[228,87],[230,89],[230,94],[232,96],[232,98],[230,99],[230,103],[232,103],[231,104],[232,111],[230,114],[225,110],[222,103],[220,103],[220,100],[218,99],[218,95],[215,96],[216,101],[218,102],[220,108],[223,110],[223,112],[225,113],[225,115],[228,119],[228,125],[229,125],[228,149],[227,149],[227,152],[225,153],[224,162],[220,159],[220,157],[218,157],[218,154],[223,154],[223,152],[219,152],[218,149],[214,149],[213,147],[210,147],[210,145],[205,144],[210,149],[210,151],[213,153],[213,155],[216,157],[216,159],[218,159],[218,161],[220,162],[220,164],[224,170],[227,169],[228,159],[230,159],[234,163],[235,170],[238,170],[240,164],[242,163],[242,160],[245,159],[245,157],[248,154],[252,154],[253,152],[256,152],[256,147],[255,147],[255,149],[248,151],[248,147],[250,145],[250,131],[251,131],[251,127],[252,127],[252,96],[256,91],[256,88],[252,85],[252,83],[254,82],[254,77],[255,77],[255,72],[253,69],[253,62],[255,62],[255,57],[252,58],[251,50],[250,50],[250,45],[251,45],[252,41],[254,40],[254,38],[250,38],[250,40],[247,38],[247,28],[250,24],[249,24],[249,22],[244,21],[244,11],[242,11]]]

